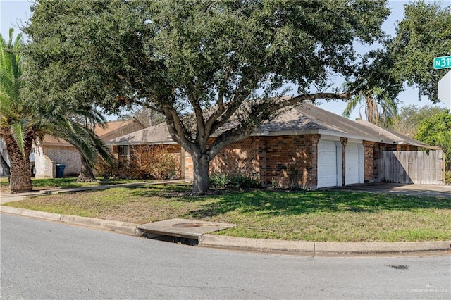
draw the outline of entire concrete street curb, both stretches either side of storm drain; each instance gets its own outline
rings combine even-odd
[[[125,235],[142,236],[138,224],[97,218],[61,215],[44,211],[0,206],[0,212],[22,215],[28,218],[57,221],[72,225],[111,230]],[[414,252],[450,251],[451,241],[438,242],[309,242],[285,241],[282,239],[249,239],[226,235],[204,234],[199,237],[198,246],[245,251],[268,251],[316,256],[321,254],[407,254]]]

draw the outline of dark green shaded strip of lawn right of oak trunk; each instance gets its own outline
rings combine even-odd
[[[370,194],[359,192],[271,192],[254,191],[216,196],[216,201],[192,211],[192,218],[207,218],[231,211],[259,215],[299,215],[304,213],[376,211],[416,211],[420,209],[451,209],[451,199],[431,197]],[[192,201],[191,197],[180,199]]]

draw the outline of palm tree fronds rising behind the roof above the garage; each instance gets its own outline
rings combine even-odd
[[[386,96],[380,97],[382,92],[382,89],[375,88],[371,91],[357,94],[347,103],[342,115],[345,118],[350,118],[351,112],[361,104],[365,107],[365,115],[368,122],[383,127],[390,126],[393,118],[397,115],[397,103]],[[362,118],[362,114],[360,114],[360,118]]]

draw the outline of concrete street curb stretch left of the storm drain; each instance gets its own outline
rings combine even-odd
[[[140,235],[137,232],[137,224],[120,221],[102,220],[97,218],[79,217],[77,215],[60,215],[58,213],[46,213],[44,211],[31,211],[28,209],[0,206],[0,212],[12,215],[23,215],[29,218],[58,221],[72,225],[82,225],[87,227],[101,228],[122,233],[124,235]]]

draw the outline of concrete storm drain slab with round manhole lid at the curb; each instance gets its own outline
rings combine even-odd
[[[198,239],[204,233],[235,227],[235,224],[204,222],[199,220],[171,219],[138,225],[138,230],[153,235]]]

